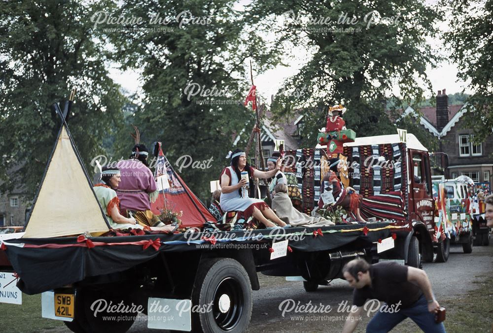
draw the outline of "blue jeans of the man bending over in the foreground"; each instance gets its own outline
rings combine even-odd
[[[406,318],[411,318],[425,333],[445,333],[442,323],[435,323],[435,315],[428,312],[428,302],[422,295],[411,307],[396,313],[378,311],[366,327],[367,333],[387,333]]]

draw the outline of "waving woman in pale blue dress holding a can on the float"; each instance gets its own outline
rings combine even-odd
[[[243,212],[246,220],[253,216],[265,227],[286,226],[286,223],[279,219],[263,200],[250,198],[249,195],[249,192],[254,192],[253,178],[273,177],[279,171],[279,164],[280,160],[277,161],[276,168],[271,171],[256,170],[246,161],[245,151],[236,149],[231,155],[231,166],[224,168],[219,180],[222,192],[221,209],[224,212]]]

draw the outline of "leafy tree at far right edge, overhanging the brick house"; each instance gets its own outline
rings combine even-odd
[[[472,128],[474,142],[481,143],[493,134],[493,0],[443,1],[443,5],[451,10],[451,22],[461,22],[445,39],[451,59],[458,64],[458,77],[470,80],[473,91],[464,126]]]

